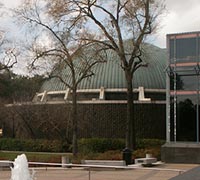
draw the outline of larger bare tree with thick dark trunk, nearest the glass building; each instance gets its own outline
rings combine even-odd
[[[84,40],[97,42],[113,50],[118,56],[127,82],[126,147],[135,147],[133,79],[136,70],[146,63],[142,59],[142,43],[157,27],[156,19],[164,9],[158,0],[56,0],[54,13],[65,18],[68,3],[74,11],[88,20]],[[91,35],[91,32],[94,32]],[[88,38],[89,37],[89,38]],[[92,38],[91,38],[92,37]],[[130,39],[130,47],[125,40]]]

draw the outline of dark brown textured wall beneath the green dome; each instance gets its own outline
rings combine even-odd
[[[136,135],[165,139],[165,105],[135,105]],[[71,106],[21,105],[4,109],[0,124],[4,136],[22,138],[72,138]],[[3,118],[2,118],[3,117]],[[124,138],[126,104],[79,104],[78,136]]]

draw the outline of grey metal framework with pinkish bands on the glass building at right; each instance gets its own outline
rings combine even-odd
[[[182,59],[184,62],[177,57],[177,48],[182,48],[181,43],[177,43],[177,40],[189,38],[196,38],[195,44],[195,61],[186,57],[186,59]],[[173,40],[170,44],[170,40]],[[173,47],[170,47],[173,46]],[[179,46],[179,47],[177,47]],[[185,44],[183,46],[186,46]],[[185,48],[185,47],[184,47]],[[184,49],[183,48],[183,49]],[[190,48],[190,47],[187,47]],[[167,35],[167,49],[168,49],[168,62],[166,68],[166,141],[171,142],[171,132],[173,132],[174,142],[177,141],[177,97],[179,95],[188,94],[188,95],[196,95],[197,97],[197,108],[196,108],[196,142],[199,143],[199,93],[200,93],[200,32],[190,32],[190,33],[179,33],[179,34],[169,34]],[[173,51],[173,52],[171,52]],[[184,50],[183,50],[184,51]],[[180,52],[179,52],[180,53]],[[185,53],[185,52],[183,52]],[[172,56],[173,55],[173,56]],[[188,59],[187,59],[188,58]],[[184,67],[183,70],[180,68]],[[195,91],[185,91],[177,89],[177,76],[196,76],[197,77],[197,89]],[[173,78],[173,79],[171,79]],[[171,79],[171,81],[170,81]],[[172,83],[173,80],[173,84]],[[170,86],[171,85],[171,86]],[[170,87],[173,86],[173,90]],[[191,94],[190,94],[191,93]],[[173,99],[173,131],[171,129],[171,98]]]

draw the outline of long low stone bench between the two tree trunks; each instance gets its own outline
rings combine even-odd
[[[82,164],[87,165],[101,165],[101,166],[125,166],[125,161],[115,161],[115,160],[82,160]]]

